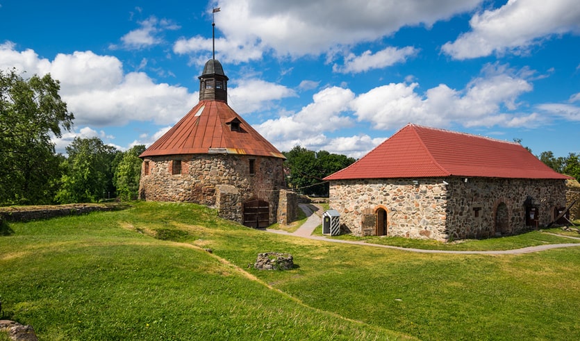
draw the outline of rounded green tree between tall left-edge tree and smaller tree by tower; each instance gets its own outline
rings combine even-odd
[[[56,201],[60,203],[95,202],[109,197],[113,185],[113,160],[119,151],[99,138],[75,138],[66,148],[65,174]]]

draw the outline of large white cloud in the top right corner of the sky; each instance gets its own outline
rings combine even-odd
[[[442,50],[456,59],[525,53],[552,35],[580,33],[580,6],[577,0],[509,0],[501,8],[474,15],[470,26],[470,32]]]

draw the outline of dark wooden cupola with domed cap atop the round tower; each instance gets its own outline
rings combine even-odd
[[[224,74],[222,64],[210,59],[204,66],[199,78],[199,101],[215,100],[228,102],[228,76]]]

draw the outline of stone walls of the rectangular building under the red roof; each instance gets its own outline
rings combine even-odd
[[[443,181],[447,184],[445,184]],[[413,183],[417,181],[417,185]],[[330,207],[340,213],[343,231],[374,235],[374,214],[387,212],[388,235],[455,240],[495,235],[497,208],[507,206],[505,233],[525,226],[527,197],[538,203],[540,226],[565,205],[565,182],[495,178],[399,178],[331,181]],[[502,210],[499,210],[502,213]]]

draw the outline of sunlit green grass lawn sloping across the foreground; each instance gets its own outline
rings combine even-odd
[[[267,233],[192,204],[132,206],[11,223],[5,318],[41,340],[580,340],[580,247],[422,254]],[[486,248],[571,241],[522,238]],[[266,251],[292,253],[295,269],[248,266]]]

